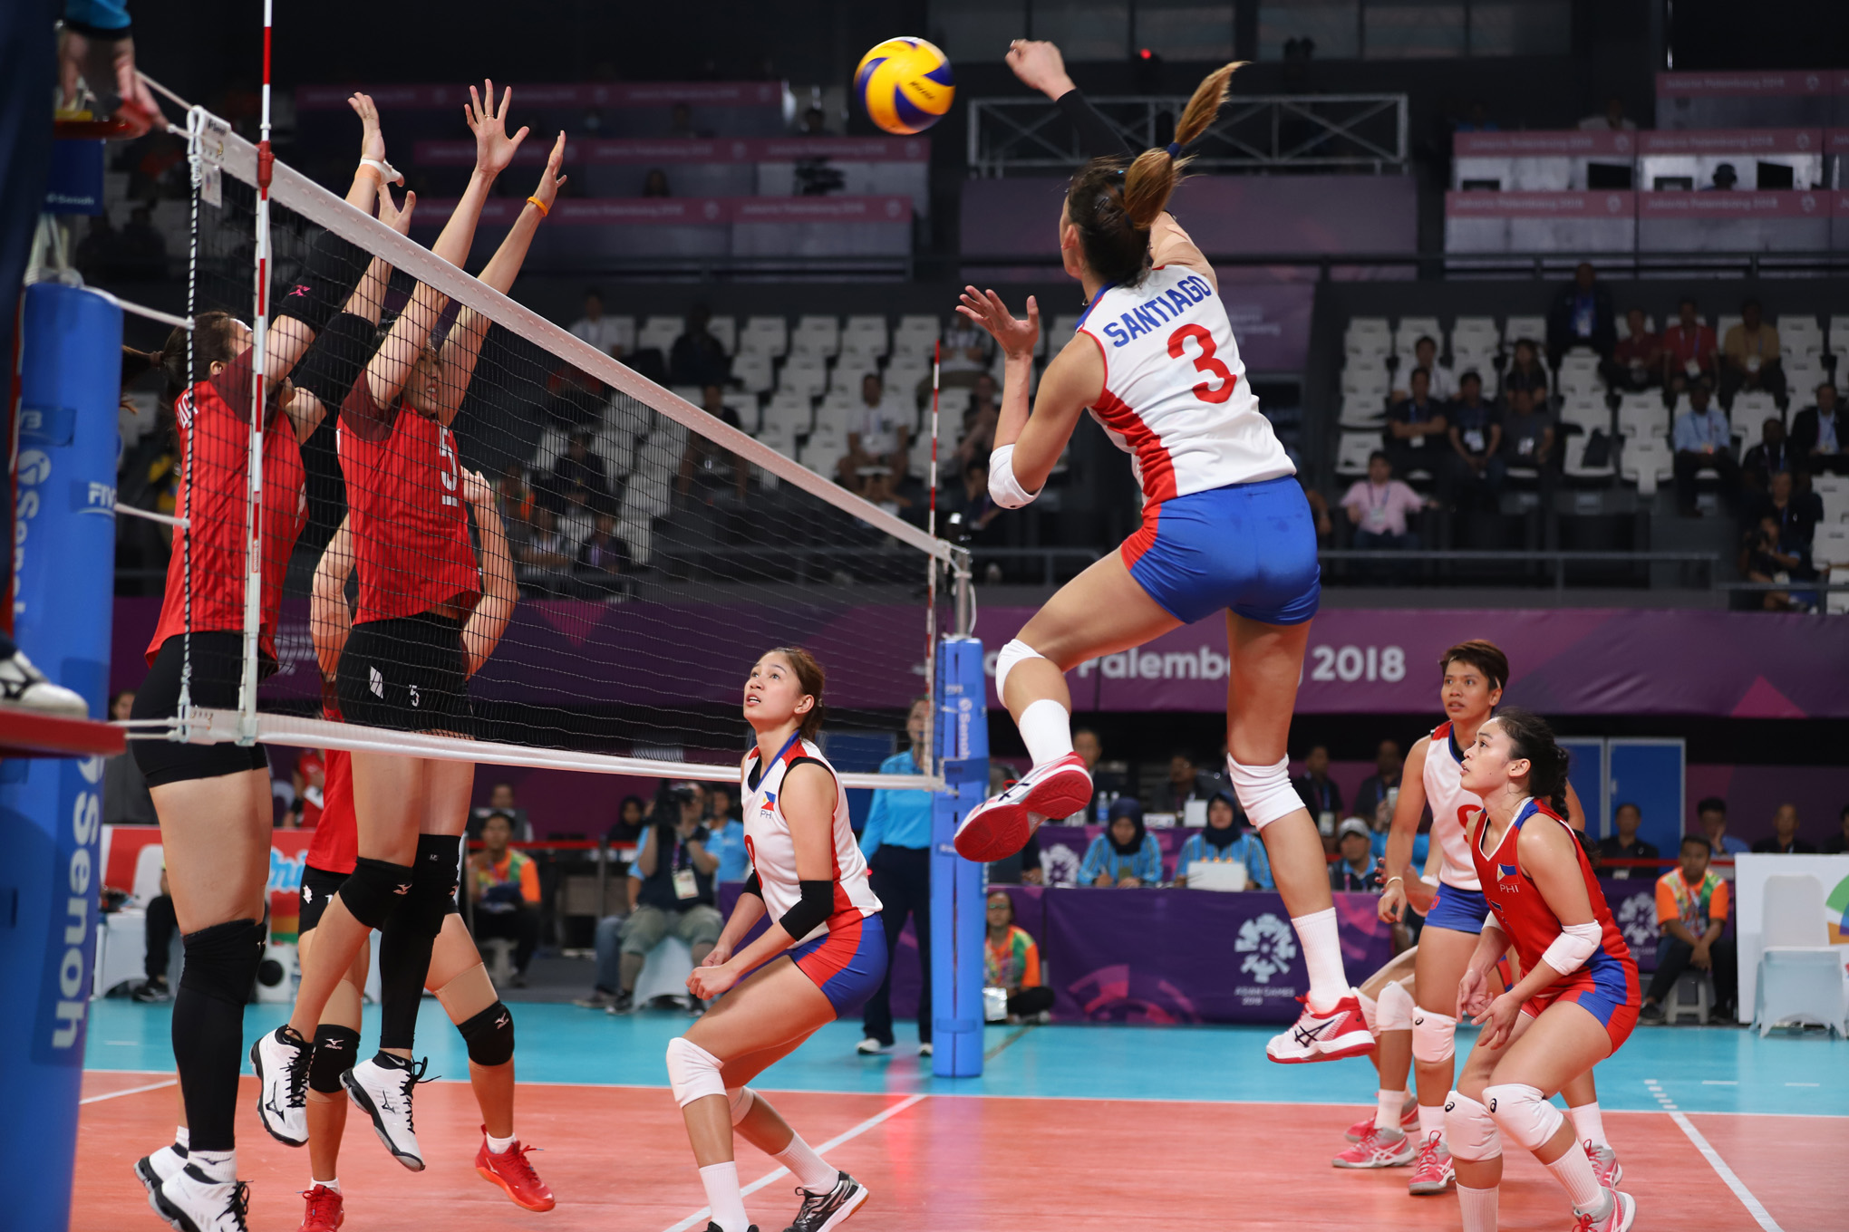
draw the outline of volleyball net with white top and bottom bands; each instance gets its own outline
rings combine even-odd
[[[268,641],[242,554],[194,562],[189,591],[244,597],[242,667],[255,687],[237,709],[190,707],[172,739],[730,779],[749,737],[745,678],[780,645],[804,646],[827,670],[825,748],[904,731],[910,704],[932,693],[937,632],[963,608],[952,595],[961,586],[967,597],[967,556],[754,440],[756,395],[655,384],[479,281],[531,190],[525,163],[503,174],[505,196],[490,198],[457,268],[279,161],[264,236],[259,148],[198,107],[189,148],[194,371],[211,331],[227,327],[214,314],[266,316],[263,362],[272,375],[287,368],[290,384],[276,395],[287,405],[257,421],[270,436],[288,430],[283,419],[320,421],[300,441],[290,512],[277,495],[296,482],[294,449],[253,445],[248,406],[233,427],[216,419],[240,438],[253,482],[196,489],[181,510],[189,543],[211,519],[242,532],[251,508],[261,534],[287,536],[292,517],[300,532]],[[420,203],[410,235],[433,236],[449,209]],[[268,314],[253,312],[261,277]],[[307,321],[292,305],[327,296],[338,303]],[[194,425],[181,464],[202,475],[213,429],[203,416]],[[928,432],[926,419],[915,471],[928,464]],[[442,534],[451,519],[466,523],[466,549]],[[462,622],[473,669],[464,717],[416,693],[440,661],[420,641],[433,610]],[[324,717],[342,646],[375,621],[396,624],[410,704],[433,706],[427,728]],[[372,691],[385,696],[377,676]],[[427,733],[459,730],[471,739]]]

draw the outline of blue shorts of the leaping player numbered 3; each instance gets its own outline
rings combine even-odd
[[[1185,624],[1224,608],[1302,624],[1322,597],[1316,519],[1289,475],[1150,501],[1119,550],[1130,576]]]

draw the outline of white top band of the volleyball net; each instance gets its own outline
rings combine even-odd
[[[231,126],[216,116],[207,116],[213,126],[211,139],[222,148],[224,172],[246,185],[257,183],[257,146],[231,131]],[[599,351],[564,327],[547,321],[544,316],[516,303],[501,292],[484,286],[466,270],[436,259],[427,248],[398,235],[388,225],[353,209],[327,188],[288,166],[272,164],[270,199],[288,207],[303,220],[325,227],[342,240],[357,244],[364,251],[383,257],[394,270],[407,273],[431,290],[436,290],[462,307],[475,308],[492,323],[501,325],[521,338],[544,347],[549,355],[568,360],[573,368],[595,377],[618,393],[625,393],[643,406],[656,410],[675,423],[680,423],[695,436],[701,436],[721,449],[738,454],[751,465],[767,471],[801,491],[806,491],[860,523],[873,526],[880,534],[891,536],[908,547],[928,552],[941,562],[950,560],[950,545],[924,534],[897,513],[888,513],[851,493],[830,478],[786,458],[754,436],[716,419],[693,403],[655,384],[647,377],[634,373],[610,355]]]

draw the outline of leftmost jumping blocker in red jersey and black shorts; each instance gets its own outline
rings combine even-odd
[[[372,100],[355,94],[361,166],[348,203],[372,212],[386,177],[385,139]],[[325,318],[309,305],[340,303],[359,266],[325,262],[331,236],[301,286],[285,297],[301,316],[268,338],[261,382],[251,331],[224,312],[202,312],[189,332],[176,329],[161,351],[174,399],[181,473],[178,530],[166,597],[148,678],[133,719],[172,719],[181,702],[231,709],[239,704],[244,628],[244,512],[253,384],[263,393],[263,508],[259,563],[259,654],[276,669],[276,621],[283,574],[303,523],[301,441],[322,421],[322,403],[288,384]],[[298,299],[298,303],[290,303]],[[190,351],[190,364],[189,364]],[[233,1110],[244,1001],[264,946],[264,885],[270,876],[270,768],[261,746],[135,741],[161,818],[166,877],[185,946],[185,975],[174,997],[174,1062],[187,1125],[170,1147],[142,1156],[135,1171],[153,1210],[178,1228],[244,1228],[246,1190],[237,1182]]]

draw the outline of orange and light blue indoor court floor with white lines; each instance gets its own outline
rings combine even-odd
[[[251,1007],[246,1038],[285,1009]],[[442,1075],[418,1090],[429,1167],[407,1173],[353,1112],[340,1166],[346,1232],[704,1232],[704,1197],[662,1066],[686,1016],[540,1003],[514,1012],[518,1132],[544,1147],[533,1160],[558,1208],[520,1210],[475,1177],[479,1117],[457,1081],[466,1055],[425,999],[420,1051]],[[1329,1167],[1342,1130],[1374,1106],[1365,1060],[1278,1066],[1263,1055],[1270,1033],[1255,1027],[989,1027],[986,1073],[947,1081],[930,1075],[908,1029],[900,1023],[893,1055],[867,1058],[854,1053],[858,1023],[836,1023],[756,1082],[797,1132],[869,1188],[849,1225],[862,1232],[1459,1226],[1450,1195],[1407,1197],[1407,1169]],[[1598,1082],[1638,1230],[1849,1228],[1849,1042],[1640,1027],[1599,1066]],[[246,1077],[246,1101],[253,1090]],[[94,1003],[72,1228],[159,1226],[131,1166],[168,1141],[174,1112],[168,1007]],[[268,1138],[246,1103],[239,1164],[251,1182],[251,1230],[294,1232],[307,1149]],[[753,1219],[780,1232],[795,1214],[795,1182],[743,1143],[738,1164]],[[1559,1186],[1525,1154],[1509,1156],[1501,1226],[1570,1226]]]

